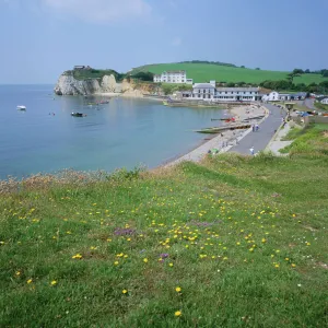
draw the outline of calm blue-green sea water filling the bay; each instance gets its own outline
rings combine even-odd
[[[167,107],[161,102],[56,96],[54,85],[0,85],[0,178],[37,173],[152,168],[206,138],[192,130],[215,126],[222,109]],[[26,112],[17,110],[26,106]],[[85,117],[72,117],[72,112]]]

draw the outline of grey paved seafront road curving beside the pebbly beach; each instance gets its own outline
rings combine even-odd
[[[249,132],[244,137],[237,145],[230,149],[230,152],[237,152],[241,154],[250,154],[249,149],[254,147],[254,152],[257,153],[265,150],[269,141],[274,134],[274,130],[278,130],[281,125],[281,117],[285,116],[285,112],[271,104],[263,104],[263,107],[271,112],[267,119],[259,125],[257,132]]]

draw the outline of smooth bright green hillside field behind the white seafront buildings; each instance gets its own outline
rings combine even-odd
[[[284,80],[289,72],[266,71],[254,69],[242,69],[226,66],[208,63],[159,63],[136,68],[132,72],[151,71],[160,74],[166,70],[186,70],[187,78],[194,79],[194,82],[206,82],[215,80],[218,82],[246,82],[260,83],[265,80]],[[303,74],[296,77],[294,83],[309,84],[327,81],[328,78],[321,78],[319,74]]]

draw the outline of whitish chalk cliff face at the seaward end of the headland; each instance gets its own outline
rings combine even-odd
[[[77,80],[72,73],[59,77],[54,89],[57,95],[85,95],[102,92],[119,92],[119,85],[114,75],[104,75],[102,79]]]

